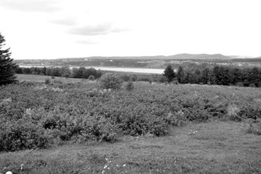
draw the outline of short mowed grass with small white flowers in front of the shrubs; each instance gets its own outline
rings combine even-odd
[[[166,137],[1,153],[0,172],[261,173],[261,137],[247,128],[244,122],[213,121],[173,127]]]

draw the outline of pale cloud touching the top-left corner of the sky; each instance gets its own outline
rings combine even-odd
[[[51,0],[1,0],[0,5],[13,10],[25,12],[55,12],[59,7]]]

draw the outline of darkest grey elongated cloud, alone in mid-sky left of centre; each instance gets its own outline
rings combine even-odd
[[[127,31],[125,28],[112,28],[110,23],[98,25],[88,25],[83,27],[71,28],[68,33],[74,35],[107,35],[109,33],[121,33]]]

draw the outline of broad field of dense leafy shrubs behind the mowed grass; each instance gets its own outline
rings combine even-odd
[[[47,148],[63,141],[113,142],[122,135],[160,137],[173,126],[216,119],[249,120],[249,131],[261,133],[258,88],[124,82],[113,89],[110,85],[114,86],[110,81],[105,85],[48,79],[0,86],[0,151]]]

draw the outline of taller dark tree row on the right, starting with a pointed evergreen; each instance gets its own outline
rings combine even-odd
[[[177,71],[173,71],[172,67],[168,65],[163,75],[169,82],[261,87],[261,69],[257,67],[239,68],[213,65],[192,66],[184,69],[179,66]]]

